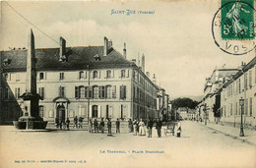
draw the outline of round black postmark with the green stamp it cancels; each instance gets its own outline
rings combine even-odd
[[[243,55],[256,47],[253,0],[222,0],[212,22],[215,43],[225,53]]]

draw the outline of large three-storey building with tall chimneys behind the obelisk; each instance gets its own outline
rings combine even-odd
[[[36,43],[36,42],[35,42]],[[11,123],[26,111],[19,96],[26,90],[27,49],[1,51],[1,124]],[[147,118],[159,117],[158,86],[142,66],[120,54],[104,37],[103,46],[35,49],[39,114],[53,122],[73,117]]]

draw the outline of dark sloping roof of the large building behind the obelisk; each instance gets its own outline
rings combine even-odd
[[[36,70],[83,70],[131,67],[132,62],[115,49],[111,48],[107,56],[103,56],[103,46],[67,47],[67,62],[59,62],[59,48],[35,49]],[[3,65],[4,72],[26,71],[28,50],[1,51],[1,61],[10,60],[10,64]],[[100,61],[96,61],[96,54]]]

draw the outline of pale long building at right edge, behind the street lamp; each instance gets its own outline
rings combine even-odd
[[[244,105],[239,105],[244,99]],[[221,89],[221,122],[239,127],[241,110],[245,127],[256,129],[256,57],[243,64]]]

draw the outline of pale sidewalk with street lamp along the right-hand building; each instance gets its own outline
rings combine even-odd
[[[233,128],[233,127],[223,126],[221,124],[215,124],[215,123],[207,123],[207,125],[205,125],[205,123],[200,123],[200,124],[218,133],[221,133],[224,136],[241,140],[243,142],[247,142],[252,145],[256,145],[256,131],[243,129],[244,137],[239,137],[240,128]]]

